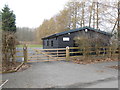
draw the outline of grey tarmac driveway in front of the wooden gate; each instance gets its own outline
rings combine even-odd
[[[4,88],[118,88],[117,62],[75,64],[66,61],[29,63],[21,72],[3,74]]]

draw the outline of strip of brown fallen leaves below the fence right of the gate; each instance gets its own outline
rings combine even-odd
[[[94,63],[99,63],[99,62],[107,62],[107,61],[118,61],[118,59],[111,59],[111,58],[106,58],[106,59],[80,59],[80,58],[71,58],[71,61],[77,64],[94,64]]]

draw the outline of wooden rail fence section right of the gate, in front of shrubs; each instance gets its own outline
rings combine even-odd
[[[113,57],[118,55],[118,48],[113,48],[111,46],[105,47],[70,47],[69,48],[69,57],[91,57],[91,56],[108,56]]]

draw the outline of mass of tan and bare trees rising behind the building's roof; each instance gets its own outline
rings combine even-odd
[[[70,0],[57,15],[43,21],[36,30],[36,38],[42,43],[42,37],[83,26],[111,32],[117,20],[117,8],[109,6],[116,7],[117,2]]]

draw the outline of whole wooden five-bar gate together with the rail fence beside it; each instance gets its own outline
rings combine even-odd
[[[33,51],[31,53],[31,51]],[[119,53],[118,48],[112,47],[66,47],[56,49],[34,49],[28,50],[28,47],[24,45],[23,50],[16,51],[17,53],[23,52],[23,55],[16,57],[23,57],[24,62],[42,62],[42,61],[55,61],[55,60],[67,60],[69,61],[72,57],[113,57]],[[41,60],[42,59],[42,60]],[[31,61],[33,60],[33,61]],[[41,61],[39,61],[41,60]]]

